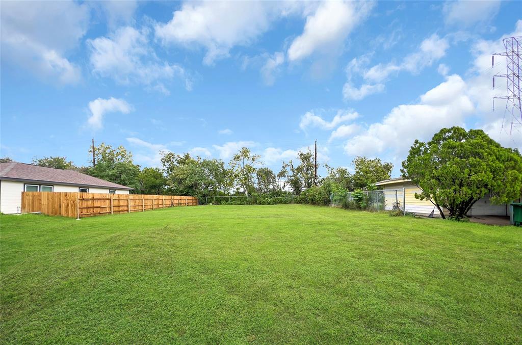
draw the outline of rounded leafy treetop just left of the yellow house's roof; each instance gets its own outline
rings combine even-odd
[[[393,170],[392,163],[383,163],[379,158],[356,157],[352,164],[355,168],[352,176],[354,189],[373,189],[375,182],[389,179]]]

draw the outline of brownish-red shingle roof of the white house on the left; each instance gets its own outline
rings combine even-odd
[[[82,174],[74,170],[46,168],[45,166],[26,163],[0,163],[0,180],[24,182],[52,182],[64,185],[86,187],[105,187],[115,189],[134,189],[121,184],[112,183],[97,177]]]

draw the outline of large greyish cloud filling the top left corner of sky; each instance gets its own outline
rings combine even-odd
[[[1,5],[2,60],[28,69],[44,80],[77,84],[81,69],[66,55],[87,31],[88,6],[65,1],[5,1]]]

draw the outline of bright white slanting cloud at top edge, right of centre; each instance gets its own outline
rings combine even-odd
[[[288,59],[298,61],[315,52],[331,53],[342,46],[355,26],[370,13],[373,2],[328,1],[306,18],[303,33],[288,49]]]

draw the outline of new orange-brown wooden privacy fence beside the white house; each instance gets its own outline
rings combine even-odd
[[[174,206],[196,206],[197,197],[78,192],[22,192],[22,213],[42,212],[63,217],[92,217],[144,212]]]

